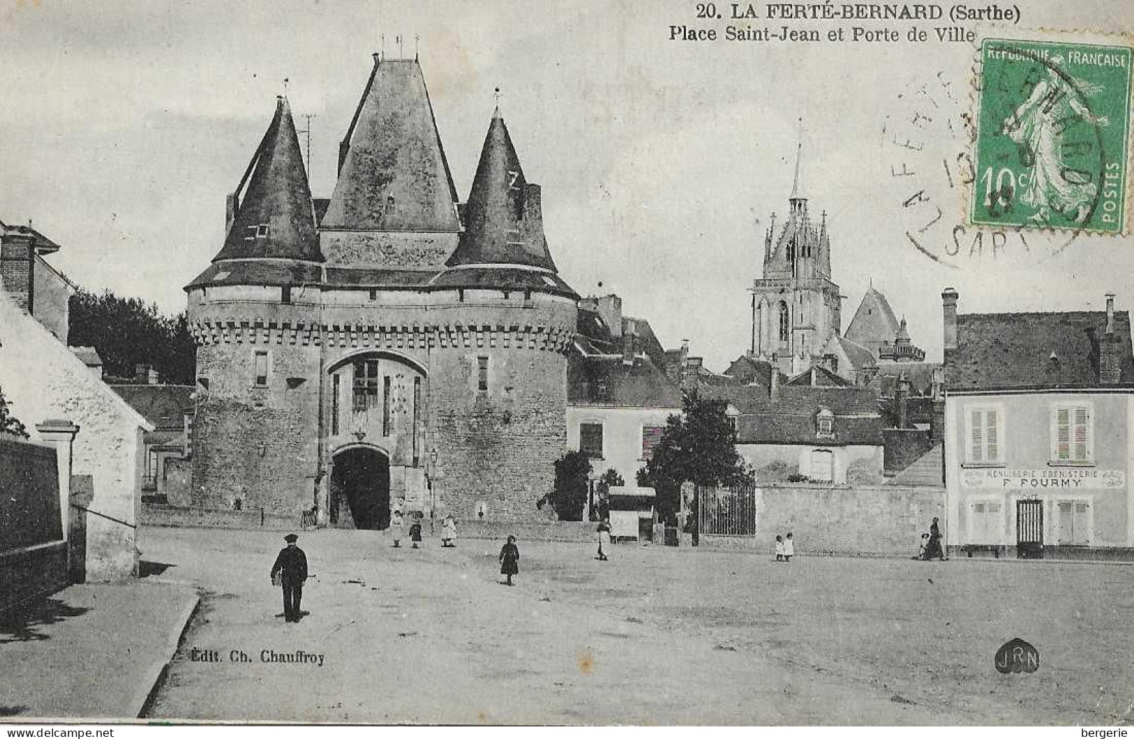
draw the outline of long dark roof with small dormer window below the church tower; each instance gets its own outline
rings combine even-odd
[[[775,399],[755,385],[704,388],[701,392],[727,400],[739,411],[738,444],[882,444],[878,398],[869,388],[781,385]],[[821,407],[835,414],[833,439],[815,435],[815,414]]]

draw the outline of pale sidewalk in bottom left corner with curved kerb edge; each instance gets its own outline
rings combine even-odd
[[[136,719],[197,606],[187,585],[73,585],[0,621],[0,721]]]

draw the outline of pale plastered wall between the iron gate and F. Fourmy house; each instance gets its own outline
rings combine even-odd
[[[794,535],[796,555],[914,557],[933,517],[945,520],[943,487],[756,489],[755,536],[705,536],[709,549],[771,554],[776,536]]]

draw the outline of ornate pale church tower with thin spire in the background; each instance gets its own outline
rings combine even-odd
[[[764,235],[763,274],[752,282],[750,356],[773,362],[788,375],[816,363],[831,335],[840,331],[839,286],[831,281],[827,214],[811,220],[799,169],[803,138],[796,147],[795,181],[787,221],[777,231],[776,214]]]

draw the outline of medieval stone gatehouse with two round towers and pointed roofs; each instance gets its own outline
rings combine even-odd
[[[499,110],[458,202],[416,60],[375,54],[329,202],[278,100],[186,291],[194,506],[384,528],[518,519],[550,490],[578,296]]]

